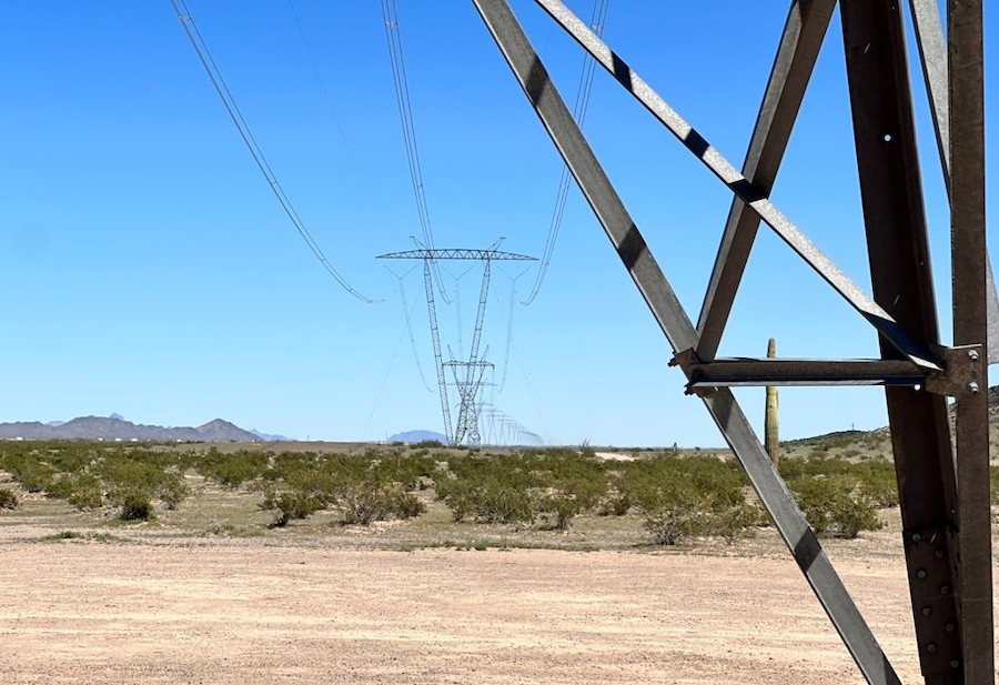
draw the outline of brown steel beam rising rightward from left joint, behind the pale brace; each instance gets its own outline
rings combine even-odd
[[[769,197],[774,188],[835,6],[836,0],[791,2],[743,163],[743,175],[763,197]],[[710,361],[718,352],[758,228],[759,214],[739,198],[733,198],[697,320],[697,356],[704,361]]]

